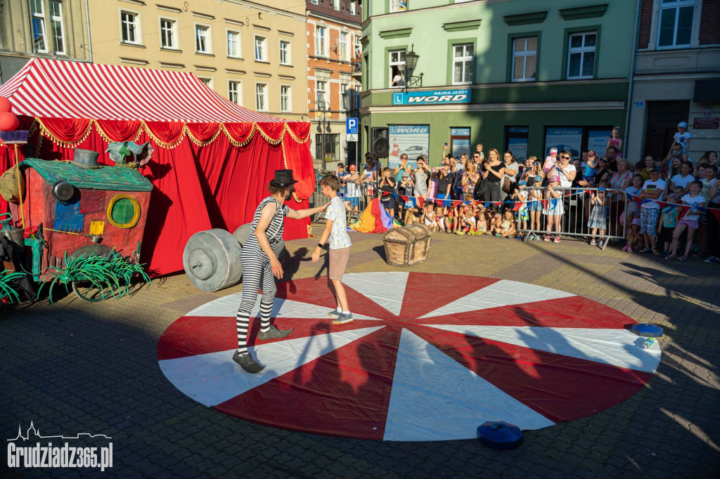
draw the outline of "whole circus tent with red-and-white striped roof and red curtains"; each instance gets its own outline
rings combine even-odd
[[[289,122],[222,98],[192,73],[33,58],[4,85],[30,148],[45,160],[72,160],[73,149],[104,153],[109,142],[150,142],[141,168],[156,186],[148,211],[143,261],[157,273],[182,269],[195,232],[233,232],[251,220],[280,168],[294,170],[294,208],[307,207],[315,187],[310,123]],[[14,164],[0,143],[0,169]],[[6,211],[6,204],[0,204]],[[309,220],[287,220],[285,238],[307,237]]]

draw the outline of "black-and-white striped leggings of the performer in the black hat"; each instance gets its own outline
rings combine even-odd
[[[238,325],[238,352],[243,353],[248,352],[250,313],[258,298],[258,288],[263,291],[263,297],[260,300],[260,328],[267,331],[270,328],[270,313],[277,286],[275,286],[275,277],[270,269],[270,260],[263,252],[243,250],[240,261],[243,263],[243,298],[240,301],[240,308],[238,308],[236,323]]]

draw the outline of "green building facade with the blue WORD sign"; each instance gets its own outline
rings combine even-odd
[[[390,127],[390,164],[401,152],[429,152],[437,164],[444,143],[455,155],[478,143],[518,158],[551,147],[604,152],[611,129],[624,131],[635,3],[369,1],[363,152],[372,127]]]

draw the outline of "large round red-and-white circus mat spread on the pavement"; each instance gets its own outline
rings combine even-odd
[[[327,278],[278,284],[272,316],[287,338],[256,340],[266,369],[233,362],[240,293],[168,327],[158,361],[195,401],[302,432],[390,441],[476,437],[485,421],[539,429],[598,413],[638,392],[660,362],[635,321],[563,291],[431,273],[353,273],[355,321],[333,326]],[[258,303],[253,311],[259,316]]]

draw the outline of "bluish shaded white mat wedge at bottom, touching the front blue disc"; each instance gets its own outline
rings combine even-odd
[[[485,421],[521,429],[554,425],[416,334],[402,329],[384,440],[444,441],[477,437]]]

